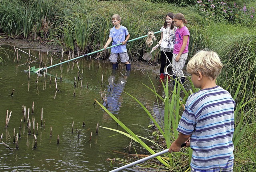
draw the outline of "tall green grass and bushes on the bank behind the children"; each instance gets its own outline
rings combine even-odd
[[[119,14],[130,39],[159,31],[168,12],[181,12],[190,31],[189,57],[200,50],[216,51],[224,63],[218,84],[244,104],[236,125],[246,131],[235,148],[234,171],[256,167],[256,22],[254,1],[212,0],[166,1],[124,0],[0,0],[0,38],[46,40],[65,51],[80,54],[102,49],[112,28],[111,16]],[[224,3],[224,4],[223,4]],[[225,4],[226,3],[226,4]],[[160,34],[156,34],[158,40]],[[146,38],[128,43],[132,61],[141,59],[152,47]],[[153,46],[156,44],[154,41]],[[95,54],[108,59],[109,51]],[[156,62],[159,52],[153,54]],[[1,59],[0,59],[1,60]],[[239,88],[239,92],[237,92]]]

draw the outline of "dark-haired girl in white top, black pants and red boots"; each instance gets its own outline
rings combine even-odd
[[[169,61],[172,61],[172,51],[174,48],[175,43],[175,32],[177,27],[174,26],[173,22],[173,13],[168,13],[165,18],[164,26],[161,27],[161,39],[159,41],[159,44],[154,46],[152,49],[156,50],[159,46],[161,47],[161,53],[160,53],[160,61],[161,61],[161,67],[160,67],[160,82],[161,80],[164,81],[164,68],[165,66],[169,65]],[[169,59],[166,63],[166,55]],[[169,77],[168,77],[169,78]]]

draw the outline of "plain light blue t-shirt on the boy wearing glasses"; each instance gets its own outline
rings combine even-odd
[[[121,27],[119,29],[116,29],[115,27],[112,27],[112,29],[110,29],[109,37],[112,37],[112,46],[122,43],[125,40],[125,37],[129,34],[126,27],[122,25],[120,26]],[[118,54],[124,52],[127,52],[126,44],[118,45],[111,48],[111,53]]]

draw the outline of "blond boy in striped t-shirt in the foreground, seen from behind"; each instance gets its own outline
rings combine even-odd
[[[180,151],[184,142],[191,147],[191,172],[233,171],[235,102],[228,91],[216,85],[222,67],[213,51],[199,51],[187,65],[193,84],[201,90],[188,97],[178,139],[169,152]]]

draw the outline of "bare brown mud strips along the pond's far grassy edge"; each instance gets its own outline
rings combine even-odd
[[[30,49],[41,52],[54,52],[61,53],[62,47],[59,45],[52,45],[47,41],[32,41],[24,39],[0,39],[1,45],[15,46],[20,49]],[[147,61],[136,61],[132,62],[132,69],[135,70],[151,70],[154,73],[159,73],[160,64],[148,63]]]

